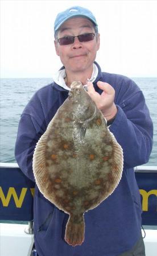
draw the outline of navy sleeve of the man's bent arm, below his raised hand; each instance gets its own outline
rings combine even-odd
[[[141,90],[117,104],[118,113],[110,131],[123,148],[124,167],[147,163],[152,150],[153,126]]]

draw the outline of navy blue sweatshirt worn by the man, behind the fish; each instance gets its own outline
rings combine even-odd
[[[118,113],[109,127],[123,148],[123,174],[118,187],[97,208],[85,213],[85,241],[70,246],[64,241],[68,214],[51,204],[35,187],[34,240],[40,256],[117,256],[130,250],[141,233],[141,200],[134,167],[148,162],[152,149],[152,121],[143,93],[134,81],[101,72],[94,81],[108,82],[115,90]],[[35,181],[32,156],[68,90],[53,82],[39,89],[24,109],[18,128],[15,157],[22,172]]]

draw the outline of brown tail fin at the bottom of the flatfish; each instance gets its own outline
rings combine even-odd
[[[81,245],[84,242],[85,222],[84,216],[79,216],[79,222],[69,216],[65,230],[65,241],[72,246]]]

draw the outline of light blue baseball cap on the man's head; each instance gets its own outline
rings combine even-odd
[[[54,24],[54,34],[56,34],[56,31],[67,19],[70,19],[76,16],[82,16],[82,17],[88,18],[96,25],[96,27],[98,26],[96,18],[94,17],[91,11],[81,6],[72,6],[71,8],[63,11],[62,13],[59,13],[56,16],[55,24]]]

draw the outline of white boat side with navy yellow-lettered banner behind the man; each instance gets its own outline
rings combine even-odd
[[[134,168],[142,203],[146,256],[157,255],[157,166]],[[29,256],[34,243],[35,183],[16,163],[0,163],[0,255]],[[5,221],[5,223],[3,223]],[[17,222],[18,221],[18,222]],[[6,223],[7,222],[7,223]]]

